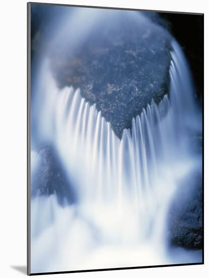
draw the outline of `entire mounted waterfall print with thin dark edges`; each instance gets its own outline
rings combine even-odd
[[[202,264],[202,104],[203,14],[29,3],[28,274]]]

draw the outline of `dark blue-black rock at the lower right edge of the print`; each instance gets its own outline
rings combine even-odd
[[[186,183],[186,184],[185,184]],[[169,213],[171,244],[202,248],[202,175],[183,181]]]

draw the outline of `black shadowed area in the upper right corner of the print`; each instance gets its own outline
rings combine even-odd
[[[159,13],[159,16],[163,19],[162,25],[176,38],[184,51],[192,72],[195,95],[201,104],[203,98],[203,15]]]

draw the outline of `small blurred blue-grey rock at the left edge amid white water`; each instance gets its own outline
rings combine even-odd
[[[31,198],[56,194],[60,205],[74,203],[75,192],[53,147],[42,145],[36,153],[39,162],[31,176]]]

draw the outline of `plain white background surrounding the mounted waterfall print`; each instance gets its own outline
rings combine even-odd
[[[36,2],[39,2],[38,0]],[[44,1],[43,1],[44,2]],[[204,13],[205,18],[205,265],[59,274],[63,277],[208,277],[208,7],[206,0],[51,0],[45,2]],[[0,8],[0,276],[24,274],[26,266],[26,0],[1,1]],[[22,268],[21,268],[22,269]],[[208,271],[209,273],[209,271]],[[49,277],[51,275],[47,275]],[[44,277],[44,276],[42,276]],[[54,275],[52,277],[55,277]]]

